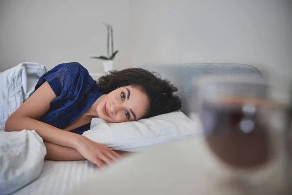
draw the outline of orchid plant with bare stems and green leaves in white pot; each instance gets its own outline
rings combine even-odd
[[[108,37],[107,37],[107,56],[99,56],[99,57],[91,57],[92,59],[101,59],[102,64],[104,67],[104,71],[108,72],[113,70],[113,59],[115,58],[116,54],[119,50],[113,50],[113,31],[112,26],[107,23],[103,23],[108,30]]]

